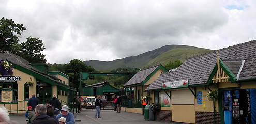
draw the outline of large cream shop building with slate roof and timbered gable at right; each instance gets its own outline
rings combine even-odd
[[[256,40],[186,59],[146,88],[160,99],[155,120],[256,123]],[[213,101],[212,101],[213,100]]]

